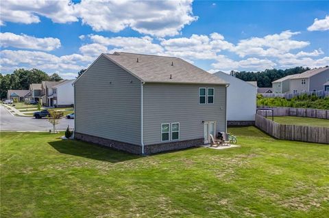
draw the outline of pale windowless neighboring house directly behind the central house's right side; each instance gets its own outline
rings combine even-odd
[[[256,82],[249,83],[225,72],[215,72],[215,76],[230,83],[228,87],[228,125],[252,125],[256,114]]]

